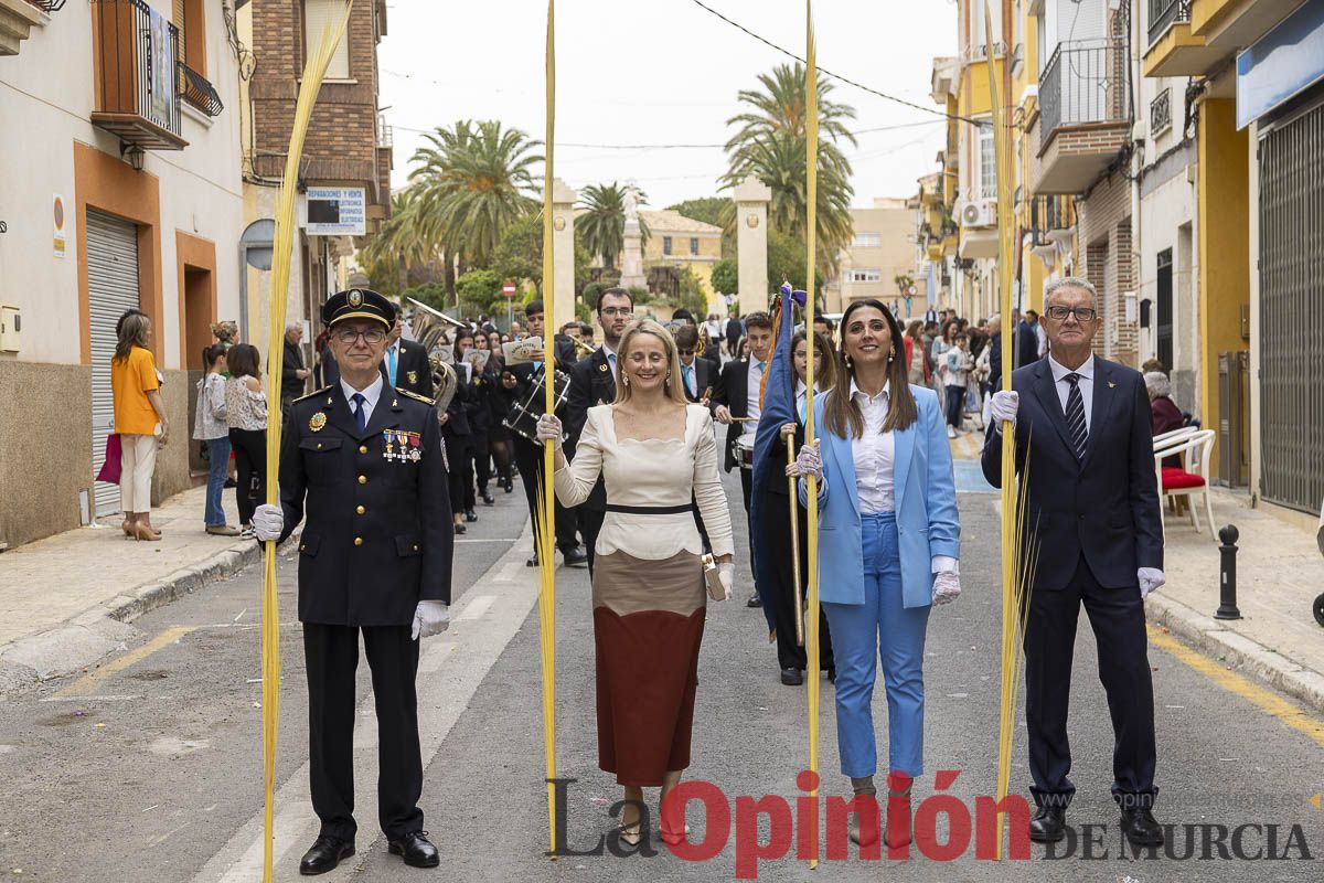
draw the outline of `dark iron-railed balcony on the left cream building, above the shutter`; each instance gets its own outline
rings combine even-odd
[[[91,4],[91,122],[140,150],[183,150],[179,29],[143,0]],[[205,82],[205,81],[204,81]],[[218,99],[217,99],[218,101]]]

